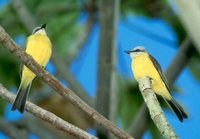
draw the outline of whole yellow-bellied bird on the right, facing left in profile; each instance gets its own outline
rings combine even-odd
[[[171,96],[165,76],[156,59],[142,46],[125,52],[128,53],[132,59],[132,71],[135,79],[138,81],[144,77],[149,77],[151,79],[153,91],[163,97],[166,103],[175,112],[178,119],[182,122],[184,118],[187,118],[186,112]]]

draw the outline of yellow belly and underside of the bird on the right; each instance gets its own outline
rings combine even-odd
[[[165,83],[157,72],[157,69],[154,67],[148,54],[142,54],[135,57],[132,60],[132,70],[137,81],[144,77],[150,77],[152,79],[153,91],[166,99],[171,99],[171,95],[165,86]]]

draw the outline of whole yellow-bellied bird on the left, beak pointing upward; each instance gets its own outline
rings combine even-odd
[[[27,39],[26,52],[33,59],[45,67],[51,57],[51,41],[45,32],[46,24],[41,27],[36,27],[32,35]],[[17,97],[12,106],[12,110],[18,109],[21,113],[24,112],[26,99],[31,87],[31,83],[36,75],[26,66],[22,68],[21,83],[18,89]]]

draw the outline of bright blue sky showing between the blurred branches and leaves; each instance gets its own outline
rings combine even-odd
[[[87,15],[83,13],[78,22],[82,23],[86,16]],[[96,24],[90,34],[89,41],[71,66],[72,73],[74,73],[74,75],[76,73],[75,76],[77,80],[92,97],[95,97],[97,88],[98,39],[99,25]],[[132,78],[133,81],[134,77],[131,72],[130,58],[123,51],[133,49],[138,45],[145,46],[149,53],[158,60],[164,71],[170,65],[178,50],[177,35],[163,20],[133,15],[129,15],[126,19],[120,20],[118,24],[117,70],[127,78]],[[49,64],[47,69],[52,70],[52,64]],[[165,114],[180,138],[198,138],[200,137],[200,101],[198,101],[200,84],[186,67],[178,77],[176,85],[181,88],[181,93],[173,96],[189,113],[189,119],[180,123],[171,111],[165,110]],[[8,105],[5,118],[7,120],[15,120],[17,117],[21,118],[21,115],[18,112],[11,113],[10,105]],[[7,139],[5,136],[3,137],[2,134],[0,134],[0,138]],[[36,137],[32,136],[31,138]],[[151,135],[147,132],[144,139],[150,138]]]

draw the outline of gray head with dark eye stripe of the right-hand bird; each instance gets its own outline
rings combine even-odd
[[[134,49],[130,50],[130,51],[125,51],[127,54],[129,54],[129,56],[131,57],[131,59],[135,58],[136,56],[139,56],[143,53],[147,53],[146,49],[143,46],[137,46]]]

